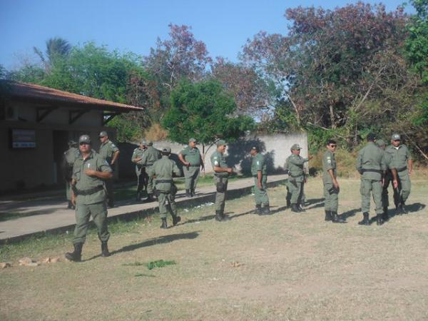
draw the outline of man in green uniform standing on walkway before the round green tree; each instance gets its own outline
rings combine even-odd
[[[200,167],[204,168],[202,156],[198,147],[196,147],[195,138],[189,139],[189,145],[183,148],[178,154],[178,158],[183,163],[183,172],[185,177],[185,195],[193,197],[195,195],[196,183],[198,183]]]

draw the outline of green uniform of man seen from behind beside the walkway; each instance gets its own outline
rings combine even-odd
[[[175,206],[175,193],[177,193],[177,188],[173,182],[173,174],[179,176],[180,168],[178,168],[174,161],[170,160],[170,158],[165,155],[148,168],[149,177],[153,178],[153,175],[156,175],[154,183],[156,185],[156,193],[158,194],[159,213],[161,213],[161,218],[166,218],[166,213],[168,212],[166,206],[167,200],[170,205],[171,215],[173,218],[177,216],[177,207]]]

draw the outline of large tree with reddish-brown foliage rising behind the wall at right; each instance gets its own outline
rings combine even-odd
[[[275,81],[282,106],[299,126],[346,126],[350,106],[362,101],[367,84],[375,83],[372,93],[389,72],[379,62],[397,56],[407,16],[402,9],[388,13],[362,3],[332,11],[298,7],[285,16],[292,21],[289,33],[260,32],[245,45],[243,60]]]

